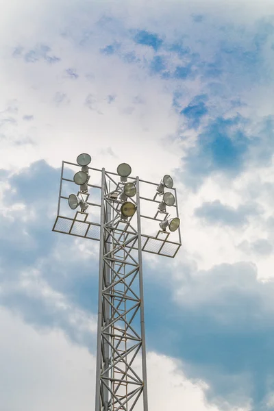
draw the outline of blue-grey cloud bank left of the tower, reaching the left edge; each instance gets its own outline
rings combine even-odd
[[[24,206],[1,217],[0,305],[36,327],[59,327],[90,347],[85,322],[96,312],[97,264],[90,270],[90,260],[83,259],[79,266],[75,239],[51,232],[60,170],[39,161],[14,175],[0,173],[13,188],[4,192],[4,208]]]

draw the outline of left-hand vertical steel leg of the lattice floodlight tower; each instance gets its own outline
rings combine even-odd
[[[104,225],[105,225],[105,169],[101,176],[101,219],[100,219],[100,251],[99,251],[99,292],[98,292],[98,319],[97,319],[97,362],[96,362],[96,388],[95,411],[100,410],[100,376],[101,376],[101,332],[102,332],[102,290],[103,290],[103,253],[104,253]]]

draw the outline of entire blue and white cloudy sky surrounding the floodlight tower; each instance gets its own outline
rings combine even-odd
[[[274,410],[273,73],[272,0],[3,2],[0,410],[94,409],[98,244],[51,231],[82,152],[177,188],[149,410]]]

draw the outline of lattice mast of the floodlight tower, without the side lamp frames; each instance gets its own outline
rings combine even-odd
[[[144,392],[147,411],[140,229],[130,219],[121,221],[119,203],[111,199],[104,171],[102,179],[95,410],[132,411]],[[123,185],[117,184],[115,192],[122,190]],[[140,215],[138,196],[136,206]],[[133,249],[136,244],[138,251]]]

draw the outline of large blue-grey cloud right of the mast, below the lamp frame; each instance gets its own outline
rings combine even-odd
[[[252,399],[252,411],[265,410],[274,378],[274,282],[258,281],[250,262],[185,270],[168,286],[162,267],[158,284],[145,284],[147,340],[180,358],[188,377],[208,382],[207,397],[220,409],[223,400],[231,410]]]

